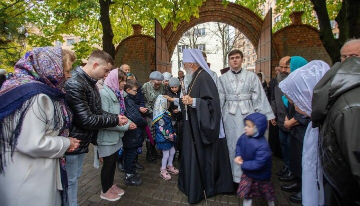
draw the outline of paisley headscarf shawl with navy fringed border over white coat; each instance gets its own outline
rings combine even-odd
[[[0,90],[0,174],[7,163],[6,151],[13,158],[23,119],[32,106],[32,97],[48,95],[54,105],[54,119],[51,123],[60,136],[67,137],[71,127],[72,114],[65,102],[66,82],[61,47],[34,48],[15,65],[14,78],[3,84]],[[62,204],[67,204],[68,180],[65,158],[61,163]]]

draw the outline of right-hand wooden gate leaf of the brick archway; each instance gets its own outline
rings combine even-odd
[[[271,78],[271,39],[272,39],[272,15],[271,9],[264,19],[261,27],[260,38],[257,46],[257,60],[255,62],[256,73],[263,72],[266,82]]]

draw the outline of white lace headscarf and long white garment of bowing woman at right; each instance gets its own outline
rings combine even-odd
[[[295,110],[307,117],[311,115],[312,90],[330,67],[323,61],[312,61],[290,73],[279,83]],[[302,204],[324,205],[322,168],[318,160],[318,128],[308,124],[302,150]]]

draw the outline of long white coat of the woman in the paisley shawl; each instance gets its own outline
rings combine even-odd
[[[53,131],[54,106],[50,97],[39,94],[33,98],[13,161],[10,151],[5,154],[5,176],[0,175],[0,204],[4,206],[61,205],[59,157],[70,146],[70,140]]]

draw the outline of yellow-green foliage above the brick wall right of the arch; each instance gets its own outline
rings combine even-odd
[[[341,0],[326,0],[327,13],[330,20],[334,20],[341,8]],[[313,5],[310,0],[277,0],[276,9],[273,13],[276,15],[282,13],[280,21],[273,25],[273,32],[290,25],[289,15],[294,11],[303,11],[302,23],[318,28],[318,22],[315,17]]]

